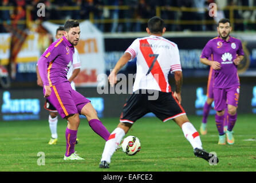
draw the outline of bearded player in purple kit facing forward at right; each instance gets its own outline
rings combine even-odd
[[[207,42],[200,56],[200,62],[214,69],[214,104],[215,121],[219,131],[218,144],[226,144],[223,130],[225,108],[227,105],[227,143],[234,144],[232,130],[237,121],[237,107],[239,99],[240,82],[237,66],[243,59],[242,42],[229,34],[232,30],[229,19],[220,19],[217,26],[219,36]],[[208,58],[211,57],[212,61]]]

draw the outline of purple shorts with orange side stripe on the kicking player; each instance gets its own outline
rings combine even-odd
[[[82,108],[90,102],[76,90],[73,90],[69,82],[59,83],[50,88],[52,93],[47,97],[47,100],[57,109],[62,118],[70,114],[81,114]]]

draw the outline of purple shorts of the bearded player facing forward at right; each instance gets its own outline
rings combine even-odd
[[[215,110],[220,111],[226,108],[226,105],[238,106],[240,86],[229,87],[226,89],[214,89]]]

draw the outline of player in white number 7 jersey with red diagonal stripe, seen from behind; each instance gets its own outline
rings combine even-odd
[[[166,31],[163,19],[152,17],[148,21],[148,37],[137,38],[128,47],[109,75],[113,86],[119,70],[133,58],[137,58],[136,78],[133,93],[124,105],[120,123],[111,133],[102,154],[100,168],[109,168],[111,157],[121,139],[128,133],[132,124],[152,112],[161,121],[174,120],[182,129],[184,136],[192,145],[194,154],[209,161],[213,155],[203,150],[199,133],[188,120],[182,108],[181,87],[182,67],[179,49],[176,43],[168,41],[162,35]],[[168,83],[168,73],[174,73],[176,90],[173,93]],[[155,97],[157,96],[157,97]],[[218,158],[214,158],[218,162]]]

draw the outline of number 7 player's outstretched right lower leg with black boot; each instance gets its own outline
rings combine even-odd
[[[203,158],[206,161],[209,161],[214,155],[206,152],[202,148],[202,142],[200,140],[199,133],[194,128],[194,126],[191,124],[191,122],[188,120],[187,115],[182,115],[179,117],[174,118],[174,121],[177,125],[180,126],[182,129],[184,136],[187,138],[187,140],[190,142],[194,149],[194,154],[196,157]],[[218,158],[216,157],[216,162],[219,162]]]

